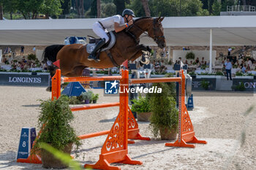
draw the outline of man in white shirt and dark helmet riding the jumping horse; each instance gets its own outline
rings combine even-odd
[[[108,35],[105,32],[105,28],[114,28],[116,32],[122,31],[124,28],[127,28],[133,24],[133,17],[135,17],[135,13],[131,9],[124,9],[122,16],[114,15],[94,23],[92,30],[101,38],[101,40],[97,43],[96,47],[89,55],[88,60],[99,61],[99,59],[97,60],[95,57],[95,53],[109,40]]]

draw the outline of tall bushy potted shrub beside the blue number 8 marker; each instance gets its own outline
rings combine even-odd
[[[51,147],[66,152],[70,155],[72,144],[76,145],[76,151],[80,146],[80,140],[75,134],[74,128],[70,125],[74,119],[69,108],[69,98],[60,96],[58,100],[50,99],[42,101],[40,104],[40,114],[38,118],[38,127],[41,129],[39,138],[34,143],[34,153],[40,152],[43,168],[63,169],[69,165],[56,159],[50,152],[42,150],[40,143],[50,144]]]

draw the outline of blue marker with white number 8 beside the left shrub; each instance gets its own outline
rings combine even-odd
[[[22,128],[20,134],[20,144],[18,148],[18,158],[29,158],[30,151],[34,142],[34,139],[37,137],[36,128]]]

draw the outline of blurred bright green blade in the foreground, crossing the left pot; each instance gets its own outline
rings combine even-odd
[[[61,152],[61,151],[57,150],[56,148],[54,148],[44,142],[40,143],[39,147],[41,147],[42,149],[47,150],[48,152],[53,154],[55,156],[55,158],[58,158],[62,163],[69,165],[71,169],[74,169],[74,170],[81,169],[80,163],[78,163],[77,161],[74,161],[70,157],[70,155],[68,155],[67,153]]]

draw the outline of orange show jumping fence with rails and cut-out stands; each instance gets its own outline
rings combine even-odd
[[[166,143],[165,146],[170,147],[195,147],[194,144],[187,143],[201,143],[206,144],[206,141],[197,140],[192,122],[187,112],[185,105],[185,82],[186,78],[184,71],[179,72],[180,77],[164,77],[164,78],[148,78],[148,79],[131,79],[129,80],[129,72],[127,70],[121,71],[121,76],[106,76],[106,77],[63,77],[61,78],[61,71],[57,70],[55,76],[52,78],[52,100],[59,98],[61,95],[61,81],[62,82],[85,82],[85,81],[105,81],[105,80],[119,80],[121,89],[128,89],[129,85],[138,83],[152,83],[152,82],[178,82],[178,139],[175,143]],[[128,139],[150,140],[143,137],[139,133],[138,123],[132,115],[128,106],[128,92],[119,93],[119,102],[110,104],[92,104],[80,107],[71,107],[72,112],[85,109],[98,109],[103,107],[119,107],[119,113],[113,123],[110,131],[99,131],[93,134],[84,134],[78,136],[80,139],[88,139],[95,136],[102,136],[108,134],[105,143],[102,146],[99,161],[95,164],[86,164],[85,168],[91,169],[120,169],[118,166],[110,166],[110,163],[127,163],[139,164],[141,161],[133,161],[128,155]],[[38,135],[39,136],[39,135]],[[130,142],[132,143],[132,142]]]

